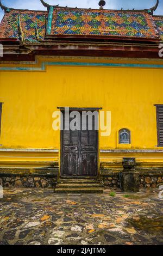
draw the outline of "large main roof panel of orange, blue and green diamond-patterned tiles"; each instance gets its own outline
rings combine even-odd
[[[51,35],[107,35],[158,38],[152,16],[145,12],[54,9]]]

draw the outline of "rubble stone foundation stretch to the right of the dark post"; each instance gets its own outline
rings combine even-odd
[[[146,176],[140,175],[140,188],[159,188],[163,185],[163,175],[162,176]]]

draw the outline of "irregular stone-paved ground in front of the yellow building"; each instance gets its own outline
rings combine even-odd
[[[163,245],[163,199],[157,192],[54,194],[5,188],[0,245]]]

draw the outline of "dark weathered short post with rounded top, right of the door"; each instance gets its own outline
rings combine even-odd
[[[124,192],[139,192],[139,173],[136,171],[136,160],[132,157],[123,157],[122,190]]]

